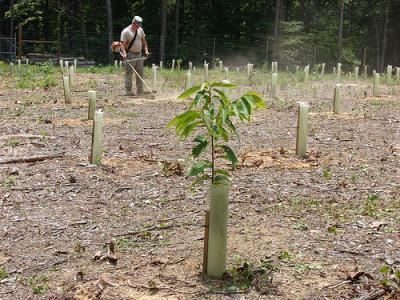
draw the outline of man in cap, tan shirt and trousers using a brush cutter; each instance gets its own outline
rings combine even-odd
[[[144,55],[148,56],[149,48],[147,47],[146,35],[142,29],[142,18],[135,16],[132,20],[132,24],[126,27],[121,32],[121,42],[124,46],[125,51],[121,51],[122,57],[125,62],[125,94],[127,96],[133,96],[132,92],[132,74],[133,68],[143,78],[143,57],[142,48],[144,49]],[[129,64],[131,66],[129,66]],[[138,95],[143,93],[143,82],[136,74],[136,92]]]

